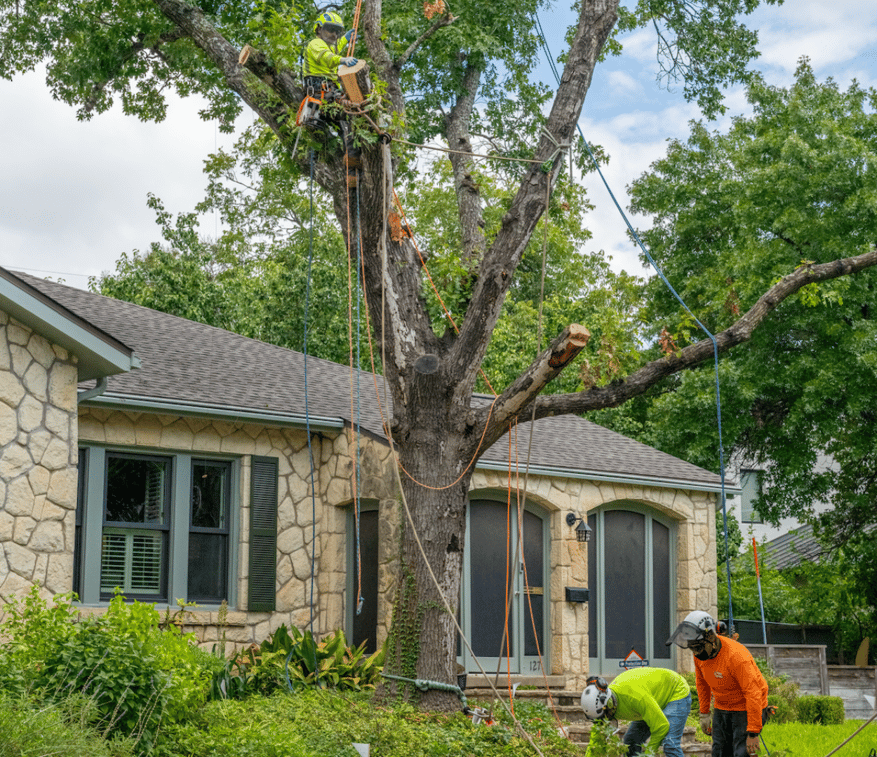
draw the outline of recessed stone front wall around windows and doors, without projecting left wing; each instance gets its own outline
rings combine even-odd
[[[265,455],[280,460],[278,487],[277,611],[248,613],[247,544],[249,542],[249,463],[242,459],[238,604],[230,608],[227,627],[217,624],[216,611],[194,610],[187,615],[187,630],[210,646],[224,636],[240,645],[267,637],[281,624],[303,628],[311,618],[311,540],[316,527],[316,586],[314,628],[327,633],[345,625],[348,586],[347,527],[354,482],[350,452],[356,440],[349,430],[337,436],[315,436],[317,461],[316,523],[311,519],[309,452],[300,429],[267,428],[255,424],[224,423],[196,418],[176,418],[142,413],[84,409],[80,417],[83,442],[157,450],[185,450],[209,454]],[[389,633],[397,576],[402,511],[396,496],[397,482],[389,447],[362,435],[360,496],[379,510],[378,643]],[[508,474],[478,470],[472,490],[505,492]],[[715,552],[715,495],[697,491],[668,490],[578,479],[530,476],[528,499],[549,513],[551,580],[551,652],[553,674],[574,676],[571,685],[584,684],[588,669],[588,608],[564,599],[565,586],[588,585],[587,544],[575,539],[565,522],[567,512],[583,516],[602,505],[635,502],[670,518],[677,530],[677,611],[679,619],[693,609],[715,612],[716,571],[709,555]],[[680,669],[691,667],[688,656],[679,656]],[[577,678],[575,678],[577,676]],[[581,680],[578,680],[578,679]]]

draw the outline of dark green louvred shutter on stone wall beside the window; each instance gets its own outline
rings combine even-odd
[[[277,473],[276,457],[253,456],[247,605],[251,612],[272,612],[277,606]]]

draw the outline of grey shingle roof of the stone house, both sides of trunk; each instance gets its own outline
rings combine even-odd
[[[75,315],[132,347],[142,368],[109,377],[107,393],[167,402],[210,403],[264,413],[304,413],[305,356],[299,352],[212,326],[86,292],[23,273],[16,276]],[[307,358],[311,416],[351,421],[351,372],[347,366]],[[383,437],[375,379],[360,372],[359,419]],[[383,380],[377,377],[380,396]],[[354,412],[357,412],[356,410]],[[384,410],[386,413],[386,409]],[[518,427],[519,460],[529,446],[530,424]],[[714,473],[573,415],[536,422],[531,466],[608,476],[659,478],[718,486]],[[508,440],[500,439],[483,460],[506,462]]]

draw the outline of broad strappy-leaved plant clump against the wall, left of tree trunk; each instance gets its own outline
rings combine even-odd
[[[290,633],[282,625],[261,645],[247,647],[214,675],[211,698],[241,699],[254,693],[270,695],[309,687],[369,690],[379,680],[383,661],[383,650],[365,656],[365,642],[348,647],[341,630],[317,643],[310,631],[293,628]]]

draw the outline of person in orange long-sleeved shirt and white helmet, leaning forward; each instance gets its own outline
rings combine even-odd
[[[719,636],[718,624],[705,612],[689,613],[667,640],[694,654],[700,727],[713,737],[712,757],[758,754],[767,717],[767,681],[749,650]],[[710,701],[715,710],[710,717]]]

